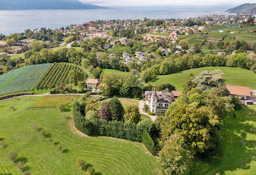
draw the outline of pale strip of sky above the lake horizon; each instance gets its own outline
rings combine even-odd
[[[111,6],[140,6],[140,5],[232,5],[256,3],[256,0],[79,0],[82,3]]]

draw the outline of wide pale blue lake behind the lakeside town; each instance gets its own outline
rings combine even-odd
[[[228,7],[119,7],[89,10],[0,11],[0,34],[23,32],[30,28],[61,28],[90,20],[190,18],[206,14],[227,14]]]

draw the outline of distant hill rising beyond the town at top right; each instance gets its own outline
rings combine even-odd
[[[228,9],[229,13],[256,14],[256,3],[245,3],[233,9]]]

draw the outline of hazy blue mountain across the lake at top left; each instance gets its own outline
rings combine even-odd
[[[0,10],[105,9],[78,0],[0,0]]]

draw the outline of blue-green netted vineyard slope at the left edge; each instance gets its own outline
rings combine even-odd
[[[35,64],[22,66],[0,76],[0,95],[18,91],[28,91],[35,88],[51,64]]]

